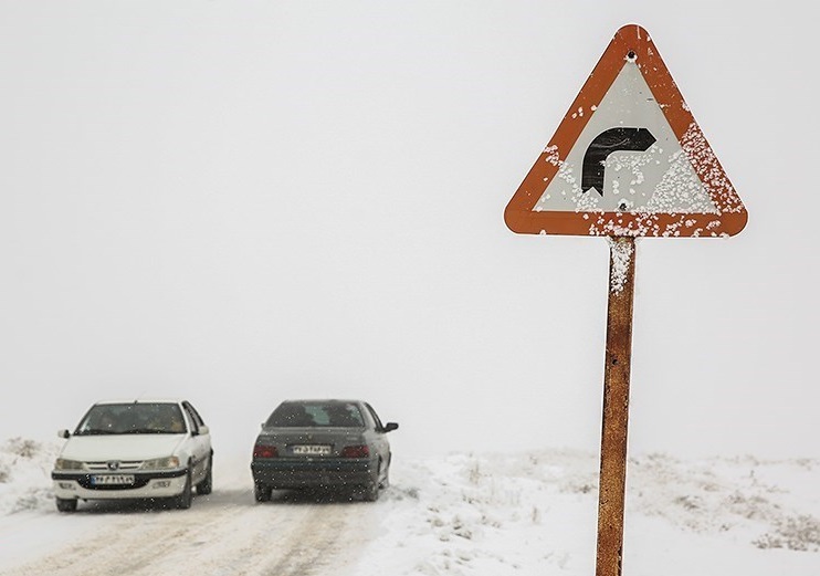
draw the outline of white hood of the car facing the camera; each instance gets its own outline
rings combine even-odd
[[[174,454],[186,434],[72,436],[61,458],[97,462],[103,460],[148,460]]]

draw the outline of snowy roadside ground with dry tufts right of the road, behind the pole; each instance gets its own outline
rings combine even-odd
[[[400,462],[400,484],[379,503],[383,534],[365,556],[397,575],[591,574],[598,464],[567,450]],[[627,476],[624,564],[633,574],[715,565],[766,574],[784,559],[769,553],[764,562],[760,551],[820,551],[820,461],[650,454],[631,459]],[[694,562],[698,551],[708,551],[703,564],[675,559]],[[817,574],[820,556],[786,565]]]

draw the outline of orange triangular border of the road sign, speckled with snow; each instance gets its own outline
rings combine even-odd
[[[634,60],[663,115],[719,214],[534,210],[628,59]],[[693,144],[694,143],[694,144]],[[557,155],[556,155],[557,153]],[[638,24],[618,30],[505,211],[516,233],[610,237],[723,237],[746,226],[748,213],[672,80],[649,33]]]

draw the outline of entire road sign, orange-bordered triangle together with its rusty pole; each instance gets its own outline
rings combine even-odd
[[[624,25],[504,211],[523,234],[610,241],[597,576],[620,576],[635,238],[734,235],[748,216],[649,33]]]

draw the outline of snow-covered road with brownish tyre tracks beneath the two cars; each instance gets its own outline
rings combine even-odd
[[[20,549],[19,564],[0,574],[344,575],[367,542],[377,505],[306,496],[256,504],[250,486],[197,496],[186,511],[81,503],[74,514],[17,526],[20,542],[36,542],[35,533],[55,534],[55,542]]]

